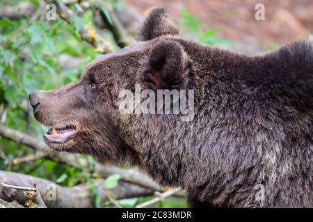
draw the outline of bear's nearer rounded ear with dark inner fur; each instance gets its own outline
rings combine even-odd
[[[163,40],[150,52],[143,71],[145,89],[186,89],[190,61],[183,47]]]

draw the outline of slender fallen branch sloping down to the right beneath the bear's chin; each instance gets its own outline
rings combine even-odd
[[[21,133],[17,130],[13,130],[1,124],[0,124],[0,135],[2,137],[11,139],[19,144],[24,144],[26,146],[34,148],[37,151],[47,153],[47,157],[57,162],[63,162],[72,167],[77,167],[80,169],[88,169],[89,167],[88,161],[83,157],[78,157],[77,155],[74,155],[72,153],[52,151],[49,148],[49,146],[47,146],[47,144],[39,142],[37,139],[29,135],[26,135],[25,133]],[[121,180],[125,182],[131,182],[149,189],[159,191],[162,190],[161,187],[156,182],[154,182],[149,176],[139,172],[136,169],[122,169],[120,167],[113,167],[108,164],[101,164],[99,162],[95,162],[93,169],[91,169],[91,171],[101,176],[109,176],[111,174],[117,173],[121,176]]]

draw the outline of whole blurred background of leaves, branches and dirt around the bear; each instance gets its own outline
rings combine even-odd
[[[28,101],[33,90],[70,83],[88,62],[133,43],[153,6],[170,11],[181,35],[240,53],[312,40],[312,0],[1,0],[0,205],[188,207],[184,191],[138,169],[49,150]]]

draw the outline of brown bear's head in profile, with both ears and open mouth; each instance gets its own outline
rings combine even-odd
[[[122,89],[187,89],[193,84],[191,60],[168,12],[154,8],[145,19],[140,40],[97,58],[85,74],[51,91],[29,95],[35,119],[50,129],[45,142],[57,151],[88,153],[99,160],[138,162],[131,139],[136,117],[119,111]],[[147,123],[166,124],[150,118]],[[152,118],[152,119],[151,119]],[[133,132],[136,133],[136,132]]]

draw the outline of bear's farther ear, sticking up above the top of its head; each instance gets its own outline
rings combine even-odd
[[[168,11],[164,8],[153,8],[139,33],[142,41],[152,40],[160,35],[178,35],[179,30],[170,19]]]

